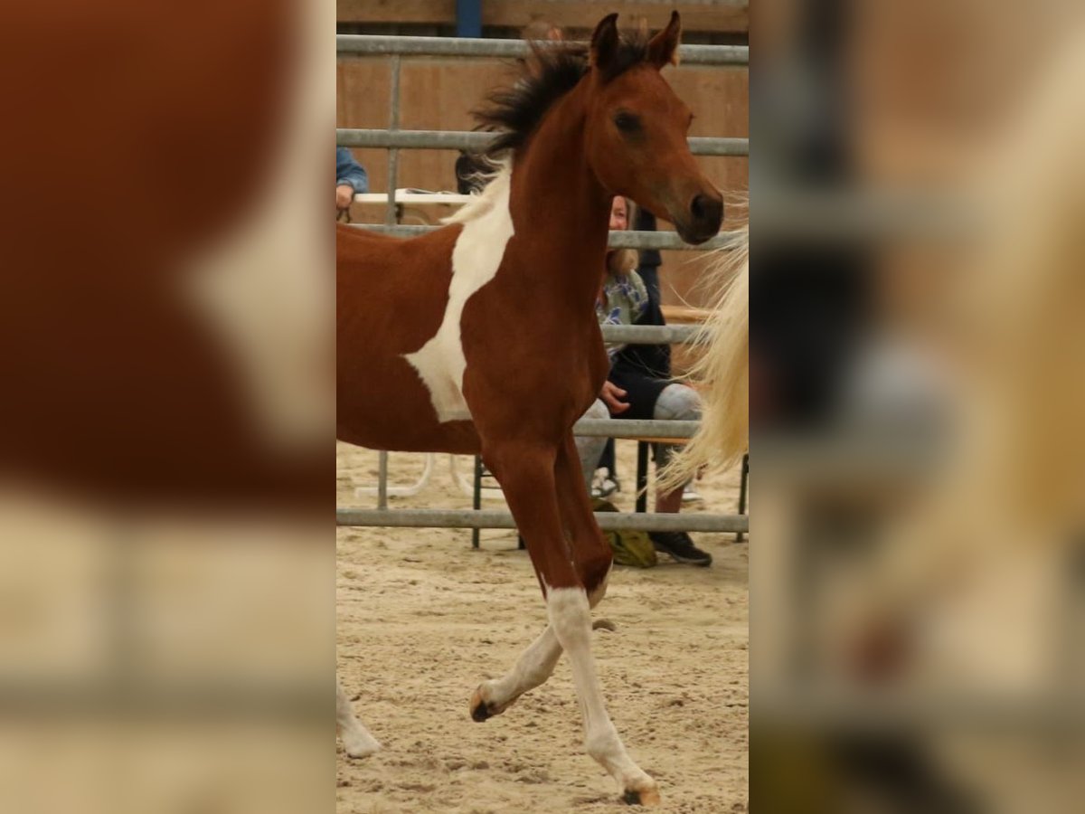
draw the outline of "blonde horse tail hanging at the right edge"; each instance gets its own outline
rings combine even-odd
[[[698,332],[705,353],[687,379],[701,393],[701,425],[663,471],[658,488],[676,488],[699,470],[723,472],[746,451],[750,438],[750,233],[732,232],[737,245],[715,252],[705,282],[719,293]]]

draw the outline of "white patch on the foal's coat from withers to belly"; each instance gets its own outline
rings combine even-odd
[[[437,420],[469,421],[471,411],[463,398],[463,371],[467,358],[460,334],[460,320],[468,300],[494,279],[505,247],[513,236],[509,211],[512,170],[502,169],[478,201],[450,220],[463,224],[463,231],[452,249],[452,281],[448,287],[448,305],[437,333],[422,347],[405,354],[430,390],[430,399]]]

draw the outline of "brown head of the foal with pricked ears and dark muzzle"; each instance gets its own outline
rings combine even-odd
[[[693,114],[660,76],[678,62],[678,12],[642,49],[621,41],[616,20],[605,17],[591,37],[588,162],[609,192],[665,217],[687,243],[703,243],[719,231],[724,200],[686,142]]]

